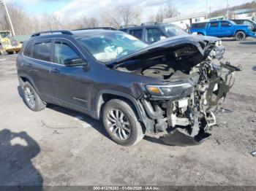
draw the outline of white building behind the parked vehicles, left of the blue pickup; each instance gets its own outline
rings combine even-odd
[[[190,26],[192,23],[203,22],[205,20],[206,12],[198,12],[189,15],[165,18],[162,23],[172,23],[186,30],[187,26]]]

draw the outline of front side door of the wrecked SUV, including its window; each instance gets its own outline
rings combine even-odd
[[[91,79],[82,66],[65,66],[64,62],[70,59],[86,62],[75,44],[67,39],[56,39],[53,42],[55,64],[50,69],[56,97],[61,105],[84,112],[83,109],[89,108]]]

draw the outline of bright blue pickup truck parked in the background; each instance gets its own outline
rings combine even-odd
[[[255,32],[251,31],[249,26],[237,25],[231,20],[192,23],[189,33],[197,33],[204,36],[235,37],[238,41],[246,39],[247,36],[256,37]]]

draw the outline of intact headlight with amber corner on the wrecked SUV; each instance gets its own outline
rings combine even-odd
[[[155,96],[177,96],[186,90],[192,90],[192,85],[189,82],[176,82],[170,85],[146,85],[146,90],[151,95]]]

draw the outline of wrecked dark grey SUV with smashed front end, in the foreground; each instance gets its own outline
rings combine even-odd
[[[121,31],[46,31],[23,44],[18,79],[31,110],[57,104],[102,119],[118,144],[146,132],[166,144],[197,144],[215,124],[212,109],[233,72],[212,62],[223,54],[215,42],[177,36],[147,45]]]

